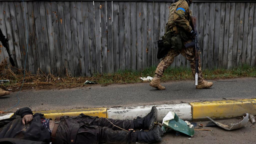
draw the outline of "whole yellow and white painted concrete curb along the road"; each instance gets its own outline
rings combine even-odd
[[[34,113],[44,114],[46,118],[55,119],[60,116],[78,116],[83,113],[89,116],[98,116],[112,119],[134,119],[146,116],[151,106],[138,107],[117,107],[117,108],[93,108],[56,111],[35,111]],[[242,116],[244,113],[256,115],[256,99],[223,100],[191,102],[172,105],[154,105],[157,107],[157,121],[162,121],[169,111],[174,111],[181,119],[205,119],[211,118],[232,118]],[[13,113],[0,116],[1,119],[12,116]]]

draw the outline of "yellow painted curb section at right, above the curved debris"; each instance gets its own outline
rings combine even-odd
[[[256,99],[191,102],[193,119],[228,118],[256,114]]]

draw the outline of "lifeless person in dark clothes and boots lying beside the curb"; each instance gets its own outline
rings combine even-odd
[[[33,115],[29,108],[22,108],[11,118],[0,121],[0,143],[152,143],[161,141],[163,135],[159,126],[153,129],[156,116],[157,109],[152,107],[146,117],[136,120],[114,120],[80,114],[76,117],[60,117],[56,123],[42,114]],[[127,131],[114,127],[110,121]]]

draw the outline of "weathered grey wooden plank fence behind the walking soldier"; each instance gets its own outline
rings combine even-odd
[[[157,66],[170,1],[0,1],[0,27],[17,68],[90,76]],[[195,1],[202,68],[255,66],[255,1]],[[27,28],[28,27],[28,28]],[[28,47],[27,47],[28,45]],[[7,52],[1,46],[1,59]],[[9,61],[8,61],[9,63]],[[189,67],[183,56],[172,67]]]

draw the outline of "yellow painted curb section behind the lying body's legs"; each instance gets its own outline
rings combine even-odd
[[[88,108],[88,109],[72,109],[72,110],[49,110],[49,111],[34,111],[35,113],[44,114],[45,118],[55,119],[61,116],[78,116],[81,113],[88,116],[98,116],[108,118],[107,108]]]

